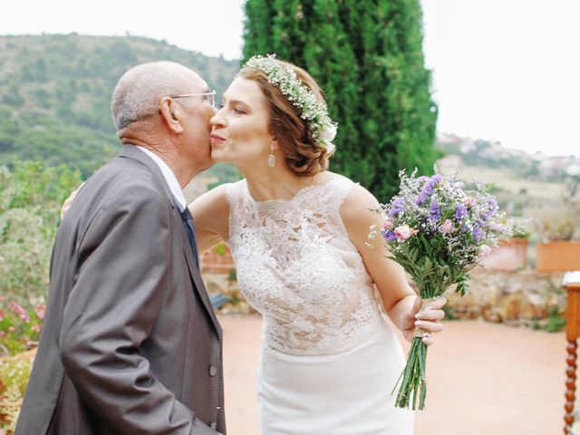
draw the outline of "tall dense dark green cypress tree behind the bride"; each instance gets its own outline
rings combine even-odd
[[[437,108],[419,0],[247,0],[244,58],[304,67],[338,121],[332,168],[387,201],[400,169],[430,173]]]

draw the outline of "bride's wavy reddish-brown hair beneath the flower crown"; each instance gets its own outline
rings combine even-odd
[[[277,59],[275,62],[293,69],[298,80],[314,93],[316,100],[324,102],[320,87],[309,73],[293,63]],[[295,174],[304,177],[328,169],[328,151],[324,146],[314,142],[308,124],[300,118],[300,111],[288,101],[277,86],[268,82],[267,74],[260,69],[246,66],[238,76],[257,82],[264,92],[270,109],[270,131],[275,135],[288,167]]]

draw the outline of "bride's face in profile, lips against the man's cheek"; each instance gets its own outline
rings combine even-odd
[[[268,102],[257,82],[238,77],[211,119],[211,158],[238,168],[266,165],[274,140],[269,123]]]

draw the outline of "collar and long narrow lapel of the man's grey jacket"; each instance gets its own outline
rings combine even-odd
[[[173,215],[175,216],[175,226],[180,228],[179,229],[180,235],[183,233],[182,237],[179,237],[179,239],[181,241],[181,248],[183,249],[183,252],[186,257],[186,262],[189,269],[189,277],[191,278],[191,281],[193,283],[193,291],[197,292],[199,299],[205,306],[206,311],[208,312],[209,318],[211,319],[212,323],[214,324],[214,327],[216,328],[218,336],[221,337],[221,326],[218,323],[218,318],[214,313],[213,307],[211,306],[211,302],[209,302],[208,292],[206,291],[205,285],[203,285],[201,275],[199,274],[199,269],[196,266],[195,259],[193,258],[193,253],[191,252],[191,247],[189,246],[189,240],[185,235],[183,222],[181,220],[181,215],[179,214],[179,208],[177,208],[177,206],[175,205],[173,194],[171,193],[171,190],[169,189],[169,186],[165,181],[165,178],[163,177],[160,167],[157,165],[157,163],[155,163],[155,161],[151,160],[151,158],[147,154],[145,154],[141,150],[138,150],[135,147],[135,145],[123,145],[123,148],[119,153],[119,156],[122,158],[138,160],[140,161],[140,163],[147,166],[147,168],[149,168],[150,171],[154,174],[157,184],[160,186],[161,189],[163,189],[163,191],[167,195],[169,203],[171,204],[171,208],[173,208],[174,210]]]

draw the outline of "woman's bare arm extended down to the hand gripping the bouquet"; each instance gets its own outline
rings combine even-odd
[[[440,332],[443,327],[439,321],[444,315],[440,308],[445,304],[445,298],[429,304],[421,312],[420,320],[415,317],[420,308],[420,299],[408,284],[404,269],[387,258],[391,255],[380,235],[375,240],[368,238],[372,225],[378,228],[382,225],[382,218],[369,211],[375,208],[379,208],[377,199],[368,190],[355,186],[343,202],[341,217],[351,242],[361,254],[364,266],[377,286],[385,311],[408,341],[412,340],[412,332],[418,321],[420,324],[417,326],[422,330]],[[423,342],[430,344],[433,339],[425,337]]]

